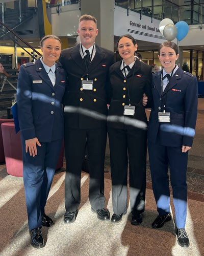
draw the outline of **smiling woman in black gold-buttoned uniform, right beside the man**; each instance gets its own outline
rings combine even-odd
[[[121,221],[127,211],[128,152],[133,225],[142,222],[145,204],[147,118],[143,93],[151,102],[151,67],[135,58],[136,50],[136,40],[131,35],[119,38],[122,60],[110,67],[112,97],[108,114],[114,211],[111,222]]]

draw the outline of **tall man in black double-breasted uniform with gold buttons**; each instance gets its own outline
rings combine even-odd
[[[65,223],[75,221],[80,205],[82,162],[87,142],[91,210],[100,220],[109,220],[105,209],[104,159],[107,139],[108,71],[113,52],[95,44],[96,19],[83,15],[79,20],[80,44],[61,53],[60,62],[67,71],[65,91]]]

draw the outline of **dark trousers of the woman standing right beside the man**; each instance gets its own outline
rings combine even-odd
[[[133,215],[144,211],[146,189],[146,136],[141,129],[108,128],[113,211],[127,211],[127,152],[130,164],[130,204]]]

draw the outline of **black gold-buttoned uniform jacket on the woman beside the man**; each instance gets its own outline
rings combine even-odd
[[[137,125],[140,127],[140,124],[136,124],[136,126],[130,125],[130,119],[143,121],[142,127],[147,127],[147,118],[142,105],[142,98],[143,93],[145,93],[148,96],[148,105],[151,105],[151,67],[137,60],[134,64],[135,67],[132,67],[125,78],[120,70],[121,61],[114,63],[110,67],[112,96],[108,113],[108,127],[114,129],[134,129]],[[135,106],[134,116],[123,115],[124,105],[129,105],[127,87],[130,90],[131,105]]]

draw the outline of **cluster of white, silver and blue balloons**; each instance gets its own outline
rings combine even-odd
[[[166,40],[172,41],[176,37],[181,41],[188,34],[188,24],[181,21],[174,25],[170,18],[164,18],[159,24],[159,30]]]

